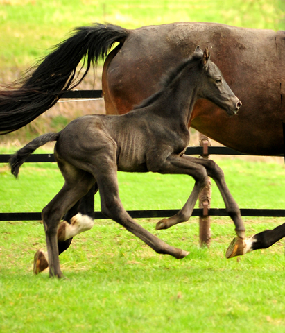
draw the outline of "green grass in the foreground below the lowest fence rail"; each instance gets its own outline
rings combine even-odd
[[[157,232],[190,251],[177,261],[98,221],[60,256],[68,280],[58,281],[32,275],[42,225],[1,223],[1,332],[284,332],[283,245],[226,260],[232,226],[212,224],[210,250],[198,248],[196,223]]]

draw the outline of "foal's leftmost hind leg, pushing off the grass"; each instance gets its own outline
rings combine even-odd
[[[94,185],[94,178],[85,171],[80,171],[69,165],[60,165],[65,183],[59,193],[42,210],[42,220],[46,232],[46,246],[49,255],[50,276],[62,277],[58,258],[58,225],[64,214],[80,200],[90,187]]]

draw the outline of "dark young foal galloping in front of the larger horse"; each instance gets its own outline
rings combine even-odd
[[[17,177],[26,158],[46,142],[56,141],[55,160],[64,177],[60,192],[42,210],[49,255],[49,274],[60,278],[58,241],[66,241],[94,225],[92,205],[89,212],[75,206],[80,199],[92,200],[99,190],[101,210],[105,216],[120,223],[157,253],[181,259],[187,251],[164,243],[136,223],[124,210],[119,198],[116,172],[182,173],[195,180],[193,191],[182,209],[169,219],[157,223],[157,230],[188,221],[207,176],[216,181],[228,214],[243,238],[245,228],[238,205],[232,198],[223,171],[211,160],[183,155],[189,144],[188,123],[193,105],[204,98],[234,115],[241,106],[221,71],[197,46],[191,58],[184,60],[164,78],[163,87],[132,112],[122,116],[90,115],[71,121],[59,133],[34,139],[11,157],[12,173]],[[60,223],[69,212],[71,224]],[[69,217],[70,217],[69,216]],[[59,228],[60,225],[60,228]]]

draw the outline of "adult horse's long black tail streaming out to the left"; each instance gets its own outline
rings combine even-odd
[[[62,94],[85,78],[91,65],[105,58],[115,42],[123,43],[129,31],[112,24],[76,28],[74,34],[43,58],[32,74],[0,91],[0,135],[17,130],[51,108]],[[80,78],[76,67],[83,59]]]

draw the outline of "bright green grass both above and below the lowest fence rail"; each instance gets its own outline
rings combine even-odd
[[[218,164],[240,207],[284,208],[283,165]],[[1,212],[40,211],[62,185],[55,164],[24,164],[19,180],[3,164],[0,171]],[[192,186],[189,177],[119,173],[126,209],[181,207]],[[213,186],[212,207],[220,205]],[[245,225],[251,235],[283,220],[245,219]],[[198,247],[197,218],[159,232],[156,222],[139,220],[189,250],[188,257],[157,255],[120,225],[101,220],[60,256],[67,280],[58,281],[32,273],[35,250],[45,246],[42,224],[1,221],[0,332],[285,332],[283,241],[227,260],[230,219],[211,219],[210,249]]]

